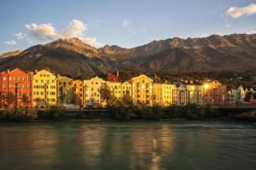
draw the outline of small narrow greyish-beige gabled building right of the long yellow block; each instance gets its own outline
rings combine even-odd
[[[187,88],[183,83],[175,83],[175,88],[172,90],[173,105],[187,105]]]

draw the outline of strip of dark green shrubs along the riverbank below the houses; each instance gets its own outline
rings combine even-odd
[[[67,111],[61,106],[52,106],[44,111],[20,107],[0,111],[0,121],[5,122],[218,120],[220,117],[223,117],[222,113],[208,105],[115,105],[84,111]]]

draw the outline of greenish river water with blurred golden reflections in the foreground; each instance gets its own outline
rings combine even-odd
[[[0,169],[256,169],[256,124],[0,123]]]

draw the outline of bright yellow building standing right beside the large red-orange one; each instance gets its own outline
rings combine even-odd
[[[57,101],[57,78],[49,71],[38,71],[32,77],[32,105],[45,108]]]

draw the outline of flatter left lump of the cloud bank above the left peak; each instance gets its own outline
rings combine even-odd
[[[30,35],[33,39],[38,41],[51,41],[58,38],[55,28],[48,24],[26,24],[26,28],[29,30]]]

